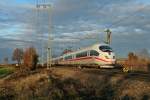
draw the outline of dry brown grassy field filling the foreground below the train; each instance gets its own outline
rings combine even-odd
[[[0,100],[149,99],[150,74],[144,72],[53,67],[16,71],[0,79]]]

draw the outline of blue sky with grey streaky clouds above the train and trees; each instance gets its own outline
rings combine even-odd
[[[150,0],[43,0],[51,9],[40,9],[36,0],[1,0],[0,61],[14,48],[46,48],[48,32],[53,54],[103,42],[112,31],[111,46],[118,56],[130,51],[150,52]],[[39,0],[39,3],[43,3]],[[47,13],[49,12],[49,13]],[[44,45],[43,45],[44,44]]]

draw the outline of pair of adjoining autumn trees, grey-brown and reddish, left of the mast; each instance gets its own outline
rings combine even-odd
[[[38,63],[38,54],[34,47],[16,48],[13,51],[12,60],[17,61],[17,66],[25,67],[30,70],[35,70]]]

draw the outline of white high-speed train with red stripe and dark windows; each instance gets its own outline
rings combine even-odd
[[[52,60],[52,63],[56,65],[96,66],[98,68],[114,68],[115,62],[115,53],[107,44],[95,44]]]

